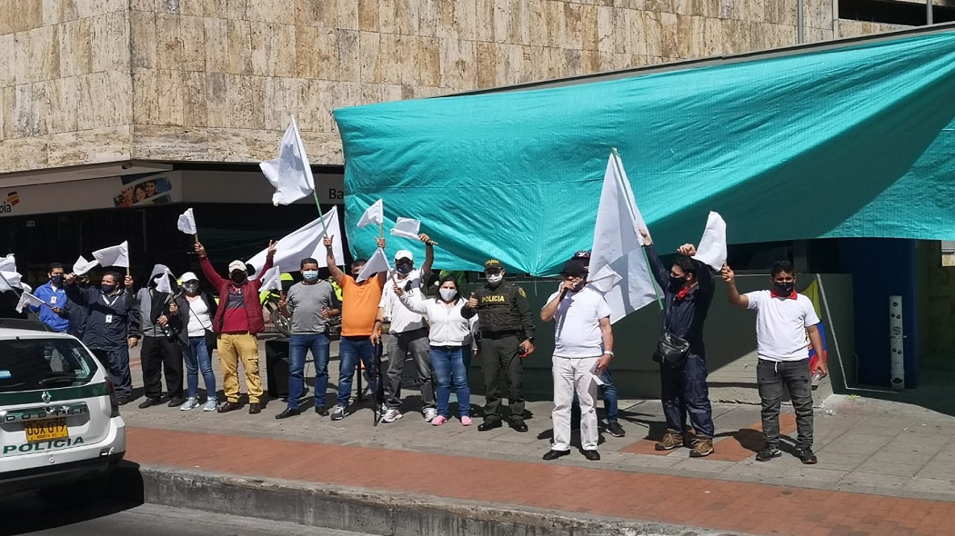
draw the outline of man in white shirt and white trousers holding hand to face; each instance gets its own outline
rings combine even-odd
[[[587,266],[572,258],[563,266],[561,288],[547,299],[541,320],[554,320],[554,441],[544,460],[570,454],[570,407],[574,392],[581,405],[581,448],[584,458],[600,460],[597,452],[597,381],[613,358],[610,307],[586,285]]]

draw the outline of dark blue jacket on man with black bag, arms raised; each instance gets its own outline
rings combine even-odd
[[[683,299],[677,298],[679,289],[669,284],[669,270],[672,265],[665,265],[657,257],[652,245],[646,246],[650,269],[660,288],[667,298],[664,308],[663,329],[673,335],[679,335],[690,342],[690,353],[705,356],[703,347],[703,321],[707,320],[707,312],[713,300],[715,285],[710,273],[710,267],[696,259],[690,259],[696,267],[696,277],[699,284],[693,287]]]

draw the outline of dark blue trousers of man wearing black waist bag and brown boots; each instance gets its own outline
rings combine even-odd
[[[696,437],[712,439],[710,388],[707,385],[707,361],[703,356],[691,353],[682,368],[661,364],[660,392],[668,430],[684,433],[689,413]]]

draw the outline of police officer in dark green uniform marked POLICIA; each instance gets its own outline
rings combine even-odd
[[[527,295],[520,287],[504,282],[504,267],[496,258],[484,263],[487,284],[471,293],[464,318],[476,314],[480,323],[480,359],[484,370],[484,422],[480,431],[498,428],[500,417],[500,377],[507,382],[507,400],[511,409],[511,427],[527,431],[524,423],[523,358],[534,352],[534,324]]]

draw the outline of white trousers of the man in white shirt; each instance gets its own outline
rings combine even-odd
[[[584,450],[597,450],[597,381],[590,370],[600,358],[567,359],[554,356],[554,450],[570,449],[570,406],[574,392],[581,405],[581,446]]]

